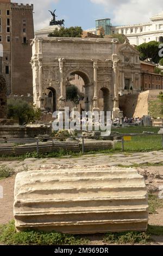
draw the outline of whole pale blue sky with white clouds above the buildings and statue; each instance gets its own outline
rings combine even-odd
[[[149,22],[149,18],[163,11],[162,0],[15,0],[34,4],[35,30],[46,27],[51,21],[48,10],[57,9],[58,20],[65,27],[95,27],[96,19],[110,18],[114,26]]]

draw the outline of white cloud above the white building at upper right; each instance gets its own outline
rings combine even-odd
[[[154,14],[161,13],[162,0],[90,0],[92,3],[104,5],[106,13],[112,11],[113,25],[129,25],[149,22]]]

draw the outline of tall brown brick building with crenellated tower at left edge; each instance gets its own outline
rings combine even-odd
[[[23,5],[0,0],[0,44],[3,57],[0,72],[7,83],[7,94],[33,94],[30,66],[34,38],[33,4]]]

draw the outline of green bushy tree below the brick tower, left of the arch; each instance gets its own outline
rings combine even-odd
[[[40,116],[40,109],[30,105],[27,101],[10,100],[8,102],[8,118],[18,119],[20,125],[39,120]]]

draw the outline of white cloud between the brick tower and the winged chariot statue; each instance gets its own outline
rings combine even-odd
[[[13,2],[23,3],[23,4],[34,4],[34,25],[35,30],[47,27],[49,21],[51,21],[51,14],[48,10],[51,10],[51,5],[55,5],[60,0],[16,0]],[[55,7],[55,6],[54,6]]]

